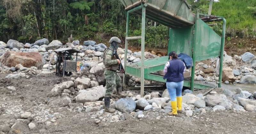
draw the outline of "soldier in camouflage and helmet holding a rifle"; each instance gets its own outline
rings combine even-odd
[[[126,97],[126,94],[122,93],[122,79],[116,73],[121,61],[117,59],[116,56],[114,55],[116,53],[117,48],[119,47],[119,44],[121,43],[121,40],[117,37],[112,37],[109,40],[109,43],[111,45],[108,49],[105,50],[104,61],[103,61],[106,67],[104,76],[106,78],[106,86],[107,86],[104,103],[105,103],[105,111],[109,113],[114,113],[116,110],[113,108],[109,108],[110,97],[111,97],[111,93],[114,90],[114,87],[116,86],[116,95],[118,97]]]

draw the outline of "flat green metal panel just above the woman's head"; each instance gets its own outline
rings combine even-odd
[[[185,53],[192,57],[194,27],[171,28],[169,30],[168,53]]]

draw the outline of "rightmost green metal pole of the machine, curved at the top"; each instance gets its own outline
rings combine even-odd
[[[223,69],[223,58],[224,58],[224,46],[225,46],[225,35],[226,35],[226,19],[223,18],[222,25],[222,38],[221,38],[221,48],[220,48],[220,75],[219,75],[219,87],[221,87],[222,82],[222,69]]]

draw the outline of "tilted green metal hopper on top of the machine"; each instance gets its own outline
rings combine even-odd
[[[146,4],[146,18],[171,28],[192,26],[195,23],[195,14],[191,12],[186,0],[121,0],[121,2],[127,11],[140,4]],[[134,13],[141,15],[142,10]]]

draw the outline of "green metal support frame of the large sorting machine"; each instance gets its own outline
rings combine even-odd
[[[148,6],[147,3],[141,3],[141,5],[132,8],[130,10],[127,11],[127,20],[126,20],[126,34],[125,34],[125,53],[124,53],[124,57],[127,57],[127,50],[128,50],[128,41],[129,40],[138,40],[141,39],[141,62],[140,62],[140,69],[136,68],[136,67],[130,67],[130,66],[126,66],[127,65],[127,60],[124,60],[124,70],[126,72],[126,74],[132,75],[132,76],[136,76],[136,77],[140,77],[141,78],[141,86],[140,86],[140,95],[144,96],[144,78],[145,79],[151,79],[151,80],[156,80],[159,82],[165,82],[163,79],[163,76],[159,76],[159,75],[155,75],[155,74],[151,74],[153,73],[152,71],[161,71],[164,68],[164,64],[157,64],[156,66],[150,66],[150,67],[145,67],[144,66],[144,52],[145,52],[145,23],[146,23],[146,17],[149,19],[152,19],[156,22],[159,22],[160,20],[158,20],[157,18],[154,19],[154,16],[146,16],[146,7]],[[141,9],[141,10],[140,10]],[[141,13],[142,16],[142,25],[141,25],[141,36],[135,36],[135,37],[129,37],[128,33],[129,33],[129,23],[130,23],[130,13],[135,12],[136,14]],[[201,16],[203,17],[201,17]],[[221,87],[221,82],[222,82],[222,68],[223,68],[223,54],[224,54],[224,45],[225,45],[225,32],[226,32],[226,20],[223,17],[217,17],[217,16],[212,16],[212,15],[206,15],[206,14],[200,14],[199,10],[197,10],[196,13],[196,17],[195,17],[195,24],[194,24],[194,31],[197,31],[198,29],[198,20],[204,18],[204,19],[208,19],[208,20],[204,20],[204,22],[212,22],[212,21],[223,21],[223,25],[222,25],[222,37],[221,37],[221,48],[220,48],[220,74],[219,74],[219,87]],[[165,23],[165,22],[162,22]],[[169,25],[166,25],[169,26]],[[191,90],[193,91],[194,88],[197,89],[205,89],[207,87],[211,87],[211,86],[207,86],[200,83],[200,82],[195,82],[195,64],[196,64],[196,54],[194,54],[193,50],[195,50],[195,39],[197,37],[196,35],[197,33],[194,33],[194,37],[193,37],[193,46],[192,46],[192,59],[193,59],[193,64],[194,66],[192,67],[192,71],[191,71],[191,81],[184,81],[184,86],[190,87]],[[213,56],[213,55],[212,55]],[[166,62],[166,61],[164,61]],[[123,86],[125,87],[125,74],[123,77]]]

